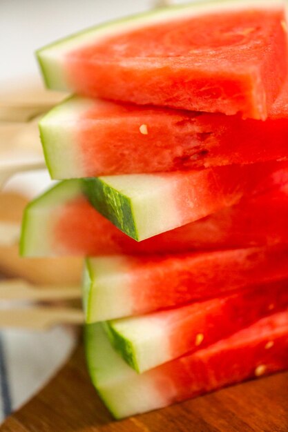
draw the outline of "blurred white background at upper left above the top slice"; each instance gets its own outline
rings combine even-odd
[[[97,23],[151,9],[155,3],[156,0],[0,0],[0,81],[37,75],[34,52],[46,43]]]

